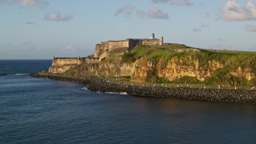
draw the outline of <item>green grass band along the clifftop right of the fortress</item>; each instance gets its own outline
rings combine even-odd
[[[207,66],[208,62],[216,61],[230,66],[232,70],[240,66],[242,69],[250,67],[256,71],[256,52],[203,50],[182,45],[136,46],[126,57],[132,60],[142,58],[142,62],[161,60],[162,67],[175,58],[176,62],[185,66],[190,66],[194,60],[198,60],[199,66]]]

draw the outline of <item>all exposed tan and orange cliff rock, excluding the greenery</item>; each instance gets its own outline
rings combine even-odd
[[[161,60],[150,59],[146,62],[142,62],[142,59],[136,62],[122,62],[118,60],[74,66],[70,70],[66,70],[64,74],[97,77],[130,76],[133,82],[146,82],[152,76],[166,78],[170,82],[184,77],[191,77],[196,78],[200,82],[205,82],[206,78],[213,77],[214,72],[223,67],[224,65],[217,61],[209,61],[207,66],[199,66],[198,60],[177,62],[176,58],[170,59],[164,67],[162,67]],[[66,69],[66,67],[62,69]],[[61,71],[61,69],[57,70],[58,72]],[[255,77],[249,68],[246,70],[238,68],[238,70],[230,71],[230,75],[245,78],[248,82],[252,81]]]

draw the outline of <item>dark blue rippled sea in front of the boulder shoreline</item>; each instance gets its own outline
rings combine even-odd
[[[31,78],[51,61],[0,61],[0,143],[255,143],[256,106],[137,98]]]

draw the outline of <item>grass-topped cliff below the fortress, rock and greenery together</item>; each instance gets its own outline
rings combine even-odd
[[[50,73],[122,77],[134,82],[242,86],[255,84],[256,54],[200,50],[184,45],[112,50],[102,61],[55,66]]]

